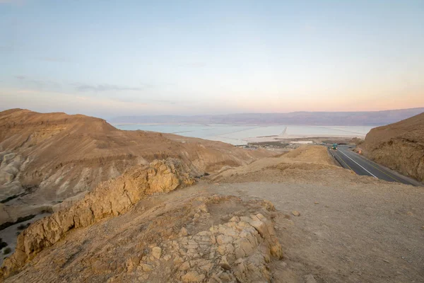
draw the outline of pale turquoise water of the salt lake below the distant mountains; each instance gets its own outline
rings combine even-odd
[[[246,139],[266,136],[365,136],[372,127],[296,126],[296,125],[114,125],[118,129],[142,129],[151,132],[199,137],[229,144],[247,144]]]

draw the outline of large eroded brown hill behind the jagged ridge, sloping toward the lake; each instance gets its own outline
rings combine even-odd
[[[122,131],[84,115],[6,110],[0,112],[0,201],[16,209],[4,221],[16,221],[22,216],[17,211],[28,204],[57,204],[157,158],[179,158],[202,175],[269,154],[218,141]]]

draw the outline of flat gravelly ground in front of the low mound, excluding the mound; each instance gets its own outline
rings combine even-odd
[[[199,183],[196,187],[245,200],[270,200],[290,218],[275,219],[288,267],[274,275],[281,282],[303,282],[293,272],[312,274],[317,282],[424,282],[422,187],[346,186],[343,180],[331,185]],[[293,211],[300,216],[293,216]]]

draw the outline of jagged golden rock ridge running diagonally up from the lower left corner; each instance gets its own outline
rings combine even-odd
[[[1,272],[9,275],[71,229],[89,226],[107,216],[124,214],[148,195],[170,192],[179,185],[193,183],[189,168],[174,158],[131,168],[117,179],[101,183],[73,206],[30,225],[18,236],[16,252],[5,260]]]

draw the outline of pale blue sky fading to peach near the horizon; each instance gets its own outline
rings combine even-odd
[[[424,107],[424,1],[0,0],[0,110]]]

